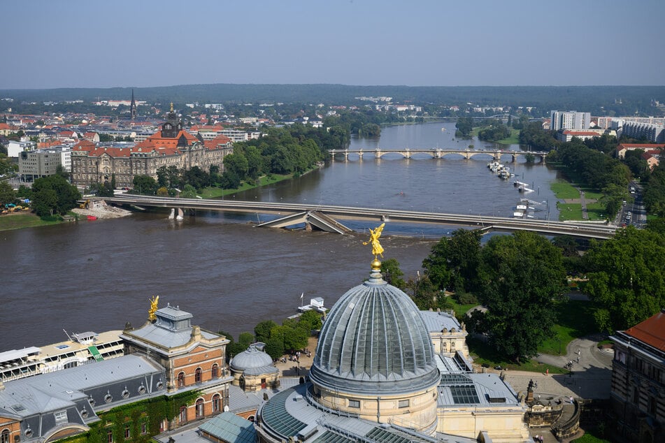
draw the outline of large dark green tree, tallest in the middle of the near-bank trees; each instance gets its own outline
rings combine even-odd
[[[517,362],[534,356],[552,335],[565,289],[560,250],[535,233],[495,236],[482,248],[478,275],[490,342]]]

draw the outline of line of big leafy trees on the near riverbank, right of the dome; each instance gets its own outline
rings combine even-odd
[[[459,229],[431,248],[424,275],[403,282],[399,263],[386,261],[389,282],[403,287],[421,310],[476,303],[464,322],[489,338],[494,349],[520,362],[554,335],[557,307],[566,303],[567,275],[585,275],[582,291],[591,298],[598,331],[634,326],[665,305],[665,236],[629,226],[614,238],[592,240],[586,254],[570,237],[550,242],[536,233],[495,235],[481,245],[478,231]],[[401,284],[400,284],[401,282]]]

